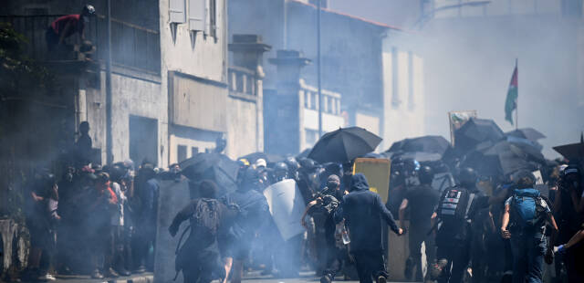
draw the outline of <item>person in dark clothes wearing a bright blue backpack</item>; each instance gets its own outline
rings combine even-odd
[[[535,181],[533,173],[517,173],[516,190],[505,204],[501,235],[511,239],[514,283],[543,282],[546,222],[552,226],[552,233],[558,231],[547,201],[533,189]]]

